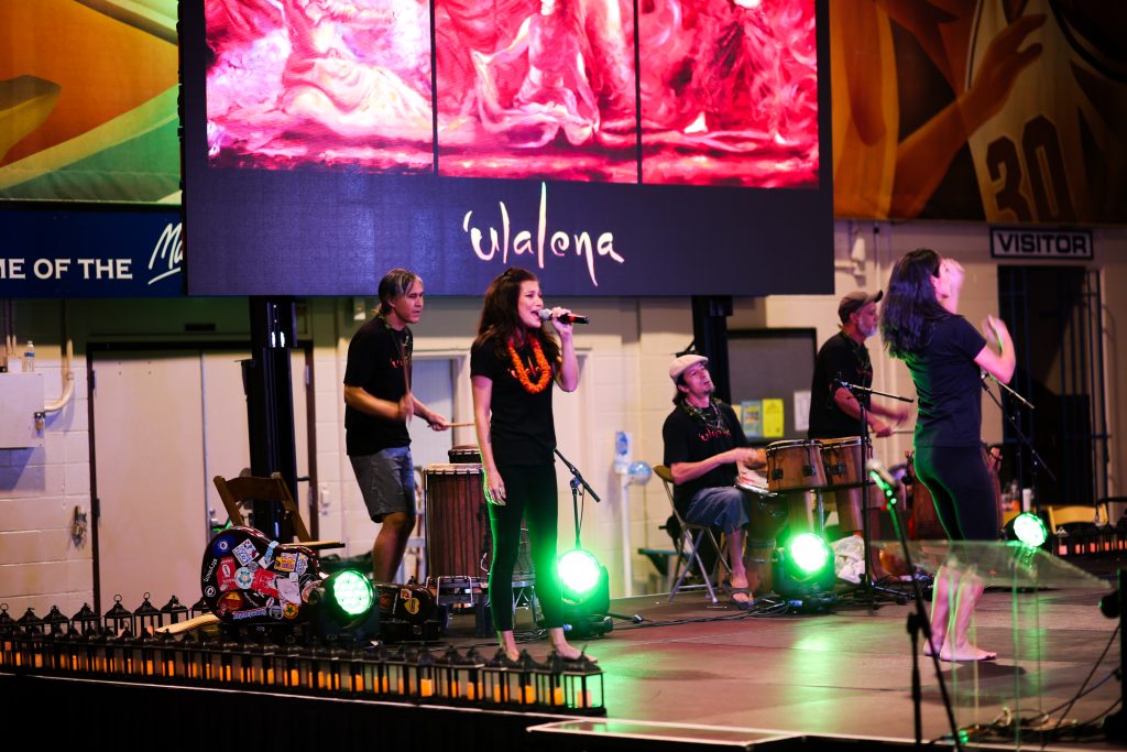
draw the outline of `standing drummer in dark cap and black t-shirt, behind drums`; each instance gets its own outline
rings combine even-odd
[[[857,290],[841,299],[837,318],[841,331],[827,339],[818,350],[810,384],[810,439],[842,439],[861,434],[861,404],[864,404],[869,431],[876,436],[889,436],[894,425],[907,418],[907,410],[871,402],[868,392],[854,396],[840,382],[872,386],[872,361],[864,340],[877,334],[877,303],[884,297],[878,290],[869,293]],[[893,425],[888,423],[893,422]],[[836,492],[837,516],[842,532],[860,532],[860,492]],[[857,507],[857,514],[843,513]],[[855,517],[855,519],[854,519]],[[846,530],[845,528],[855,528]]]

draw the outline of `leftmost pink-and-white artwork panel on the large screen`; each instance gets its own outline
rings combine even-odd
[[[210,0],[213,166],[433,169],[419,0]]]

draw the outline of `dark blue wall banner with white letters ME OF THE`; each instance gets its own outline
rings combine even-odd
[[[184,294],[177,209],[0,211],[0,298]]]

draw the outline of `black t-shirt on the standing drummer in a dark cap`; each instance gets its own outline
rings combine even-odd
[[[834,379],[841,374],[842,381],[862,387],[872,386],[872,361],[869,348],[858,344],[844,331],[838,331],[822,345],[814,362],[814,379],[810,382],[810,439],[840,439],[859,436],[861,422],[846,415],[834,400]],[[869,393],[854,395],[869,409]]]

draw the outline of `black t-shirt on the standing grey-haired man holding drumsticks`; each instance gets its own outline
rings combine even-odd
[[[345,384],[360,387],[367,393],[398,402],[407,393],[403,361],[410,373],[410,329],[397,331],[381,317],[375,317],[353,335],[348,343]],[[407,446],[411,436],[400,421],[362,413],[345,406],[345,448],[349,454],[375,454],[392,446]]]

